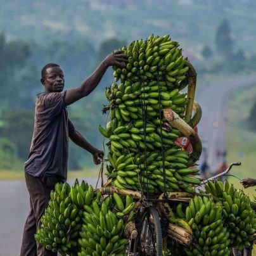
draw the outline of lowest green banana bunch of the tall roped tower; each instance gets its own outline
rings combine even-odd
[[[165,182],[167,191],[182,189],[193,192],[189,184],[199,184],[196,175],[198,169],[188,169],[188,153],[178,147],[165,151]],[[164,189],[163,162],[161,152],[153,151],[146,156],[147,165],[144,166],[144,155],[131,153],[129,156],[108,153],[111,169],[108,167],[108,177],[117,188],[140,190],[141,184],[147,187],[150,193],[159,193]],[[167,161],[168,160],[168,161]]]

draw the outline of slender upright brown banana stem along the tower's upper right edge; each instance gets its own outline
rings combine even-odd
[[[187,60],[186,65],[189,67],[188,70],[188,104],[186,106],[185,121],[189,122],[193,111],[193,103],[196,92],[196,70],[193,65]]]

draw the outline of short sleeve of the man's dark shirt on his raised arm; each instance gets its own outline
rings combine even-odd
[[[44,96],[44,106],[51,117],[58,115],[61,110],[66,107],[64,101],[66,92],[67,91],[63,93],[49,93]]]

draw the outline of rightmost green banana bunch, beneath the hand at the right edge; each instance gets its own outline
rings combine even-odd
[[[250,205],[250,198],[240,189],[235,189],[227,180],[208,181],[205,184],[207,193],[222,200],[224,222],[229,231],[232,247],[250,246],[256,231],[256,215]]]

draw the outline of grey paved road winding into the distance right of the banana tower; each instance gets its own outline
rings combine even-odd
[[[253,86],[255,83],[256,75],[230,77],[205,86],[205,89],[196,95],[196,101],[202,106],[203,112],[202,120],[198,125],[198,133],[200,138],[208,144],[208,165],[212,170],[217,169],[220,160],[216,155],[217,150],[224,151],[226,149],[226,103],[229,94],[236,88]],[[203,157],[202,154],[201,162]],[[235,159],[234,162],[236,162]]]

